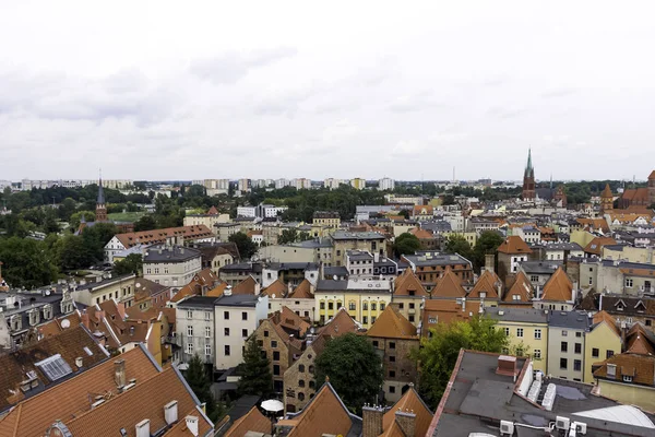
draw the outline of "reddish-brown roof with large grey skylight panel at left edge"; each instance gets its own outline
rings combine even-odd
[[[53,359],[57,355],[60,362],[68,366],[68,373],[50,373],[45,366],[37,365],[47,358]],[[78,357],[82,357],[82,367],[78,367],[75,363]],[[82,326],[68,328],[33,345],[1,355],[0,412],[25,397],[60,383],[70,375],[94,367],[108,357],[107,351],[96,343],[88,330]],[[22,382],[29,380],[34,381],[34,387],[28,385],[28,390],[21,390]]]

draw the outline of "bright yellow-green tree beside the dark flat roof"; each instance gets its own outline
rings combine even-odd
[[[504,332],[495,329],[496,321],[475,316],[469,321],[439,323],[430,336],[420,340],[420,349],[412,353],[420,368],[419,393],[436,408],[448,386],[461,349],[500,353],[508,347]]]

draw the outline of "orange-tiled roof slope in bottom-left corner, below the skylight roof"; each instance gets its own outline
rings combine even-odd
[[[158,373],[153,358],[142,347],[138,346],[121,354],[120,359],[124,361],[126,380],[134,378],[138,385]],[[44,435],[56,420],[68,422],[74,415],[91,410],[90,394],[115,395],[117,387],[114,379],[114,362],[108,359],[21,402],[0,420],[0,435],[15,437]],[[141,405],[142,401],[135,404]],[[116,435],[120,434],[117,432]]]

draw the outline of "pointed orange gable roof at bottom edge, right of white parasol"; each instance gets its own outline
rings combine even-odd
[[[332,385],[325,382],[299,414],[278,421],[277,426],[291,427],[288,437],[347,436],[350,428],[361,427],[361,418],[352,415]]]

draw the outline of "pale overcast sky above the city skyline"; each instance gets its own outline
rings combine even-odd
[[[645,179],[654,13],[0,0],[0,179]]]

